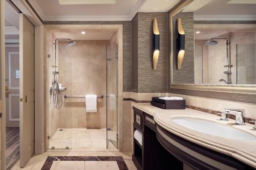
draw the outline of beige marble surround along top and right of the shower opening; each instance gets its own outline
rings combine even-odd
[[[95,29],[95,30],[114,30],[117,35],[118,49],[118,85],[117,85],[117,114],[118,114],[118,150],[123,151],[123,25],[44,25],[47,30],[55,29]],[[47,72],[48,74],[48,72]],[[48,92],[48,91],[46,91]],[[48,115],[48,113],[47,113]],[[48,119],[47,119],[48,121]],[[46,125],[46,124],[45,124]],[[46,128],[46,127],[45,127]],[[48,132],[47,132],[48,133]],[[48,134],[47,134],[48,135]],[[47,137],[44,136],[44,137]],[[47,141],[47,140],[46,140]],[[46,142],[48,148],[48,142]]]

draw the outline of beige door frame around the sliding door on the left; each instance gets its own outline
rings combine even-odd
[[[12,0],[35,27],[35,154],[42,154],[44,150],[44,25],[26,0]],[[5,1],[1,1],[1,42],[5,42]],[[5,99],[5,43],[1,43],[2,56],[2,169],[6,167],[6,99]],[[4,81],[3,81],[4,80]]]

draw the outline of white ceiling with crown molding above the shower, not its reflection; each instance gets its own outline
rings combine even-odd
[[[60,5],[59,0],[28,1],[44,21],[131,21],[137,12],[167,12],[179,2],[179,0],[60,0],[68,3]],[[102,4],[104,2],[105,4]]]

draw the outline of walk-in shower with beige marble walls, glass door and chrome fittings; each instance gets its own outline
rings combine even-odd
[[[49,34],[48,149],[118,149],[117,44]],[[86,112],[87,94],[103,96],[96,112]]]

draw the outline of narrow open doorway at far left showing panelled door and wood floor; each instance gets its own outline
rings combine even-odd
[[[19,14],[5,2],[6,169],[19,160]]]

